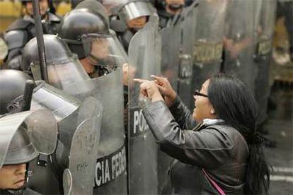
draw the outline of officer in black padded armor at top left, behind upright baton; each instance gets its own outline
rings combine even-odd
[[[4,40],[8,46],[6,65],[8,69],[20,69],[21,53],[24,45],[35,37],[35,23],[33,20],[33,2],[22,0],[25,16],[13,22],[6,30]],[[49,12],[48,0],[40,0],[40,14],[42,16],[45,34],[57,34],[60,17]]]

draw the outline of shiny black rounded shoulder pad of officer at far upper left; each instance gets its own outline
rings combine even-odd
[[[4,40],[8,50],[23,47],[28,42],[28,32],[25,30],[11,30],[5,34]]]

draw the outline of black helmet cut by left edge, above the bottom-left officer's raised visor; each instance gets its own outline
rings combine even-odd
[[[28,74],[17,70],[0,70],[0,115],[8,112],[8,104],[23,95],[25,82],[33,80]]]

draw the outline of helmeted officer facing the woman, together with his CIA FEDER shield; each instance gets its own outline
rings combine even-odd
[[[108,15],[104,10],[98,1],[86,0],[64,16],[60,37],[67,42],[71,52],[78,55],[91,77],[87,81],[76,82],[64,91],[82,101],[93,97],[105,108],[100,124],[100,143],[95,155],[93,193],[126,194],[122,64],[127,62],[127,57],[115,32],[109,30]],[[115,159],[119,159],[119,162]]]

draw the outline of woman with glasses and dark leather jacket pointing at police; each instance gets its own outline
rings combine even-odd
[[[171,194],[261,194],[270,168],[255,130],[253,95],[233,76],[217,74],[195,91],[190,112],[166,78],[134,79],[151,104],[143,114],[161,150],[175,158]]]

